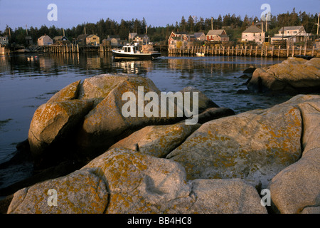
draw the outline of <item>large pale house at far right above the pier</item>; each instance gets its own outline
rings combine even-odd
[[[271,38],[271,43],[279,40],[286,40],[288,45],[306,41],[311,33],[306,33],[304,26],[284,26],[279,29],[277,34]]]

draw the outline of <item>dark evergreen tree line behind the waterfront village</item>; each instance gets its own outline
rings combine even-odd
[[[225,29],[230,41],[238,41],[241,38],[242,31],[250,26],[251,24],[256,24],[260,21],[257,16],[247,16],[242,19],[241,16],[236,16],[235,14],[227,14],[225,16],[219,15],[218,18],[206,18],[197,16],[188,16],[185,18],[181,17],[181,21],[176,21],[176,24],[167,24],[166,26],[147,26],[146,20],[143,18],[124,20],[120,22],[114,21],[110,18],[100,19],[97,23],[83,23],[78,24],[78,26],[73,26],[72,28],[56,28],[55,26],[50,26],[48,28],[46,25],[41,26],[41,28],[31,26],[26,30],[26,28],[18,27],[14,30],[8,25],[4,31],[0,31],[1,36],[9,36],[10,43],[26,44],[26,36],[31,36],[33,43],[36,43],[37,39],[44,34],[47,34],[51,38],[55,36],[62,36],[63,31],[65,36],[69,41],[73,41],[80,34],[96,34],[100,37],[100,40],[107,38],[108,35],[119,35],[121,39],[128,39],[130,32],[135,32],[138,34],[147,33],[151,41],[166,43],[171,31],[180,31],[187,33],[204,32],[213,29]],[[318,21],[317,14],[306,13],[305,11],[299,11],[297,13],[295,9],[291,13],[289,11],[284,14],[279,14],[277,16],[271,16],[271,21],[268,21],[268,31],[267,36],[274,36],[274,33],[278,33],[282,26],[304,26],[307,33],[316,33],[316,23]]]

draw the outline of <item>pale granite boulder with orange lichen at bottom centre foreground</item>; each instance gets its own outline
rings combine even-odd
[[[110,190],[107,213],[266,213],[242,180],[194,180],[171,160],[115,148],[84,168],[97,168]]]

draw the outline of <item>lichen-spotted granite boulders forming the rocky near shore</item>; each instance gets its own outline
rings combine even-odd
[[[308,71],[311,86],[320,85],[316,61],[302,63],[318,69]],[[269,85],[260,72],[249,90],[257,77]],[[188,125],[185,115],[124,118],[122,95],[138,96],[140,86],[161,93],[148,78],[100,75],[41,105],[14,159],[31,160],[36,175],[0,190],[1,212],[320,213],[320,95],[235,115],[185,88],[199,99],[198,123]],[[48,190],[58,192],[57,206]]]

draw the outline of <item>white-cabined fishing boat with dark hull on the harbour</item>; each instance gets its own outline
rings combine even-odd
[[[114,59],[138,59],[138,60],[154,60],[161,56],[161,53],[155,51],[142,51],[142,46],[129,43],[121,49],[112,50]]]

